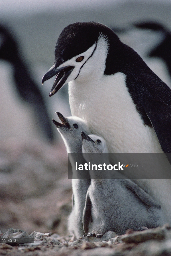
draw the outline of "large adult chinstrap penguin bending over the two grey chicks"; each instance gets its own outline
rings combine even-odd
[[[105,25],[68,25],[42,82],[54,75],[50,96],[69,82],[72,115],[98,131],[109,153],[171,152],[170,88]],[[170,180],[134,181],[164,207],[171,223]]]

